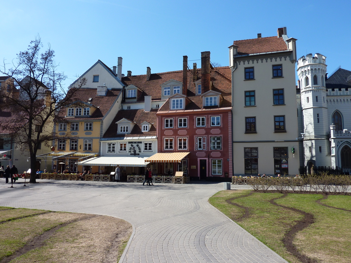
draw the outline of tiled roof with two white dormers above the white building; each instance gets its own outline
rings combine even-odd
[[[132,110],[120,110],[114,117],[110,127],[108,127],[103,138],[116,138],[116,137],[137,137],[137,136],[156,136],[156,118],[157,109],[152,109],[151,112],[144,112],[144,109],[132,109]],[[117,135],[118,122],[121,119],[133,120],[136,124],[131,130],[130,134]],[[141,131],[142,124],[147,121],[153,123],[151,125],[150,131]]]

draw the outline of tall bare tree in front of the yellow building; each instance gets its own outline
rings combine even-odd
[[[55,122],[62,122],[56,114],[59,107],[67,106],[75,91],[86,83],[85,79],[81,79],[66,92],[62,86],[66,76],[57,71],[54,50],[49,45],[41,53],[42,46],[41,39],[36,38],[26,51],[17,54],[9,68],[5,62],[0,68],[1,74],[12,80],[11,86],[0,93],[0,110],[15,116],[9,125],[9,138],[17,147],[29,152],[31,183],[36,183],[34,171],[41,143],[50,146],[56,139],[52,127]]]

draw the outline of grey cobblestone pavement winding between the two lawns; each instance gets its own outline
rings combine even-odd
[[[286,263],[207,202],[223,183],[38,182],[8,188],[0,180],[0,205],[122,218],[133,234],[120,262]]]

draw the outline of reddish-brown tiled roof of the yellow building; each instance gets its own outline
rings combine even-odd
[[[74,120],[101,120],[108,110],[111,108],[121,89],[109,89],[107,90],[106,96],[98,96],[97,89],[95,88],[79,88],[71,98],[72,103],[82,101],[90,104],[93,107],[97,107],[94,113],[90,117],[74,116],[69,117],[70,121]],[[90,103],[88,99],[92,98]],[[59,112],[59,116],[66,116],[66,108],[62,107]]]

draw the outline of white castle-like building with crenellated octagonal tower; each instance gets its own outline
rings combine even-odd
[[[327,77],[326,57],[298,59],[300,163],[351,170],[351,71],[338,68]]]

